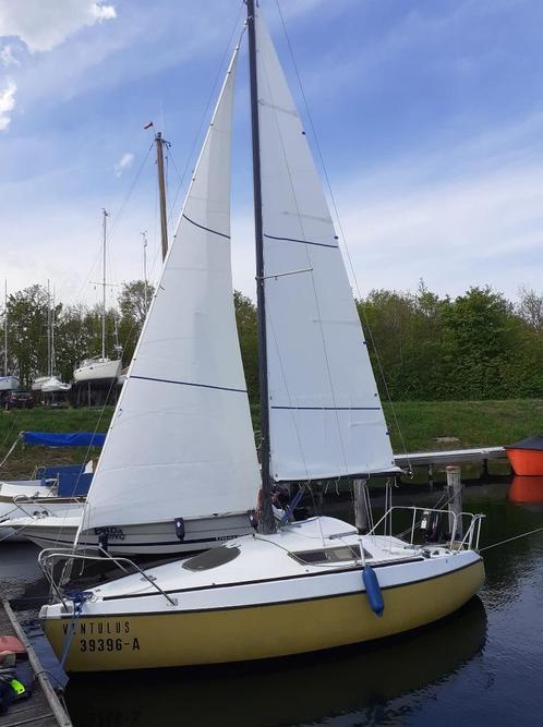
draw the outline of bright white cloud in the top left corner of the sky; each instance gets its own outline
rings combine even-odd
[[[81,28],[116,16],[105,0],[0,0],[0,37],[19,37],[31,52],[46,51]]]

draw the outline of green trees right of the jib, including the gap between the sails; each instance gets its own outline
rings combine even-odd
[[[236,294],[252,400],[257,399],[256,308]],[[543,294],[524,287],[512,303],[491,287],[439,296],[372,290],[357,301],[383,400],[543,398]]]

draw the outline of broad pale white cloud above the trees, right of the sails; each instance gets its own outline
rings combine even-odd
[[[419,184],[398,171],[403,183],[390,178],[388,194],[375,194],[363,179],[350,180],[338,195],[362,294],[415,290],[420,278],[452,295],[486,283],[509,298],[521,282],[541,289],[540,165],[515,162]]]

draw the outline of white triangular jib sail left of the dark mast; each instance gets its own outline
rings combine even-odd
[[[124,383],[81,530],[242,512],[258,488],[230,263],[236,58]]]

